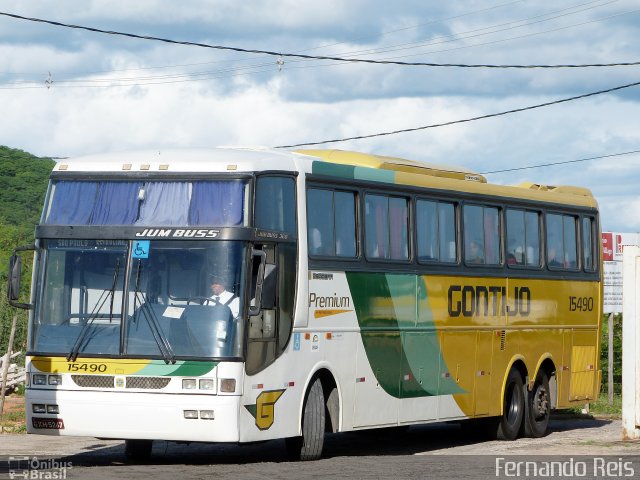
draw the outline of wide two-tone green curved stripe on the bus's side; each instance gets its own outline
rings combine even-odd
[[[346,275],[365,353],[385,392],[396,398],[464,392],[453,379],[440,375],[447,367],[423,277]]]

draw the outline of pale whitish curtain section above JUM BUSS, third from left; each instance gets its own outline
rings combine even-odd
[[[148,182],[144,186],[140,218],[135,223],[136,225],[186,225],[188,209],[188,182]]]

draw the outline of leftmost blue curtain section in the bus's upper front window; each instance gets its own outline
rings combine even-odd
[[[46,223],[52,225],[86,225],[95,203],[96,182],[58,182]]]

